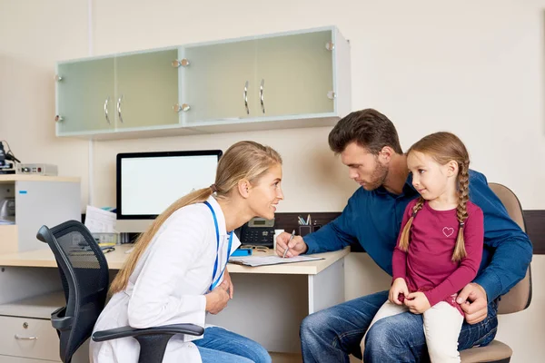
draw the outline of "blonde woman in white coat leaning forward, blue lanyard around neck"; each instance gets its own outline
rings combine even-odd
[[[206,313],[219,313],[233,299],[225,268],[240,241],[233,230],[255,216],[272,219],[283,199],[282,159],[257,142],[237,142],[218,163],[210,188],[175,201],[136,242],[110,287],[112,299],[94,330],[130,325],[149,328],[193,323],[205,327]],[[250,338],[218,327],[202,337],[174,336],[164,363],[271,362]],[[94,363],[134,363],[134,338],[91,342]]]

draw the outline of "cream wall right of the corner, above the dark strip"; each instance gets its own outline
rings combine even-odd
[[[146,3],[95,0],[95,54],[338,25],[352,44],[354,110],[386,113],[404,148],[429,132],[458,133],[475,169],[509,185],[526,209],[544,208],[538,186],[545,170],[533,161],[545,156],[543,11],[535,2]],[[114,203],[114,179],[104,176],[119,150],[225,147],[253,137],[284,155],[286,201],[279,211],[340,211],[354,185],[327,147],[329,130],[101,142],[96,201]]]

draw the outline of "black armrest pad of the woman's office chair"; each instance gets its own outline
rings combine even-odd
[[[104,341],[117,338],[138,337],[142,335],[158,335],[158,334],[189,334],[194,336],[203,335],[204,329],[194,324],[173,324],[163,325],[163,327],[154,327],[146,329],[134,329],[132,327],[121,327],[115,329],[95,331],[93,334],[94,341]]]

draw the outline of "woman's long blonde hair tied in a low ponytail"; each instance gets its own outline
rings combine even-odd
[[[218,199],[229,198],[229,194],[237,187],[238,182],[243,179],[251,184],[259,181],[268,170],[277,164],[282,164],[280,154],[269,146],[263,146],[257,142],[236,142],[220,158],[216,170],[215,182],[208,188],[193,191],[163,211],[152,223],[152,225],[138,237],[134,250],[124,264],[124,268],[115,276],[110,285],[110,295],[124,290],[127,287],[129,277],[133,274],[136,263],[144,253],[144,250],[154,239],[154,235],[163,222],[166,221],[174,211],[193,203],[206,201],[216,192]]]

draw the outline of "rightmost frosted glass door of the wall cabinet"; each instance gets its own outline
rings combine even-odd
[[[332,113],[332,31],[257,41],[257,82],[263,83],[261,116]],[[261,89],[259,90],[261,91]]]

